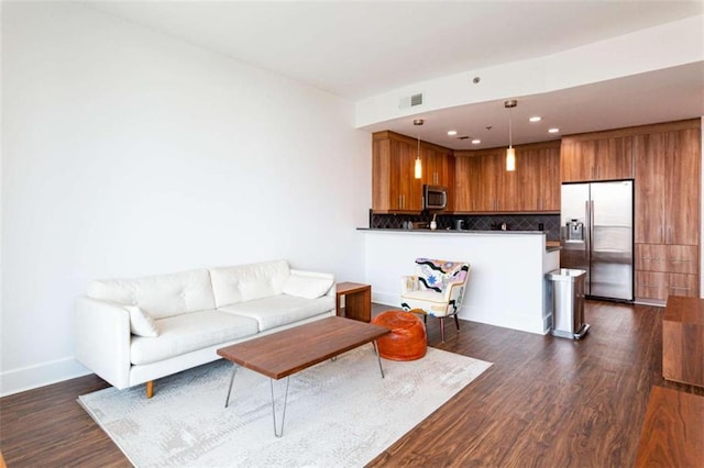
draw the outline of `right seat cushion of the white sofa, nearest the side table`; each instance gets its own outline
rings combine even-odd
[[[334,298],[323,296],[304,299],[297,296],[277,294],[256,301],[224,305],[218,310],[257,321],[260,332],[320,315],[334,309]]]

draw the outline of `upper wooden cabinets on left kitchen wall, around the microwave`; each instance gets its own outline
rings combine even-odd
[[[376,213],[422,210],[422,185],[446,186],[448,209],[452,209],[454,161],[452,151],[420,143],[422,177],[415,178],[418,141],[394,132],[377,132],[372,136],[372,211]]]

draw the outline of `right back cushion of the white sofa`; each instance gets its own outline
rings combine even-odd
[[[289,276],[286,260],[211,268],[216,307],[280,294]]]

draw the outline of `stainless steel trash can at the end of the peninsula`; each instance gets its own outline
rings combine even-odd
[[[586,271],[560,268],[546,275],[552,297],[554,336],[581,339],[590,330],[584,323],[584,278]]]

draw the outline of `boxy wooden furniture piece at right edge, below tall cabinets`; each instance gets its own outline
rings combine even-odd
[[[662,377],[704,387],[704,300],[668,298],[662,317]]]

